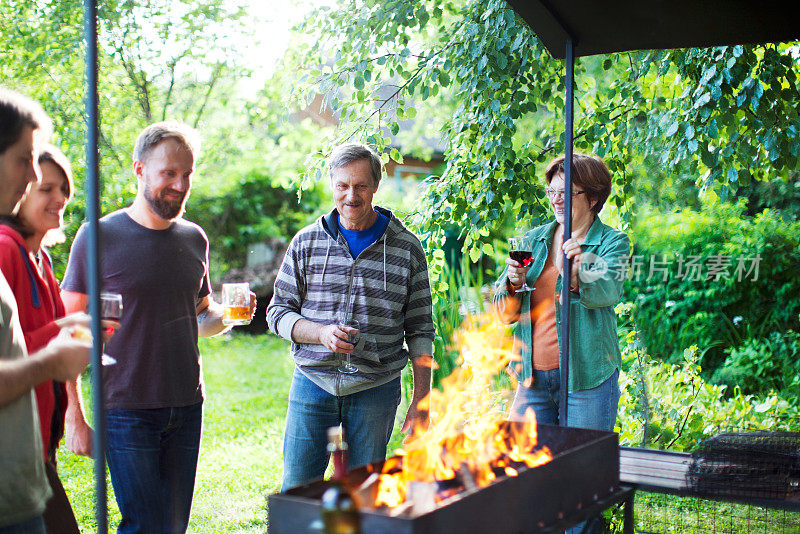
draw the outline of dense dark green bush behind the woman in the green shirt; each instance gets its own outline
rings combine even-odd
[[[651,212],[634,222],[625,291],[635,295],[633,316],[653,356],[679,361],[696,344],[708,377],[726,348],[797,330],[800,223],[771,210],[755,217],[742,211],[742,203],[708,203],[700,212]],[[651,261],[667,270],[651,273]],[[722,271],[709,276],[715,262]]]

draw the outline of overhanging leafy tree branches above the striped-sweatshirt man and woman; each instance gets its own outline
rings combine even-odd
[[[430,250],[456,225],[476,261],[509,216],[541,220],[536,167],[563,151],[563,63],[505,2],[350,0],[313,13],[300,31],[309,44],[293,51],[293,94],[325,94],[340,115],[328,146],[357,137],[382,150],[384,132],[401,131],[420,103],[441,102],[447,167],[430,181],[417,219]],[[578,62],[575,146],[606,159],[610,203],[623,221],[638,183],[650,198],[666,193],[695,205],[699,189],[727,198],[751,179],[796,180],[793,50],[734,46]],[[435,273],[441,261],[431,258]]]

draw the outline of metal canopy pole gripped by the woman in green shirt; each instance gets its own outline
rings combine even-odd
[[[566,241],[572,236],[572,122],[573,122],[573,88],[575,85],[575,50],[572,38],[567,39],[566,72],[564,84],[567,98],[564,106],[564,237]],[[569,395],[569,319],[570,291],[569,281],[572,261],[563,257],[561,277],[561,352],[560,362],[560,395],[558,402],[558,422],[567,426],[567,398]]]

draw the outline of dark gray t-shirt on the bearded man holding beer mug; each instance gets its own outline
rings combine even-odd
[[[87,227],[78,230],[61,288],[88,293]],[[122,295],[122,326],[105,352],[106,407],[189,406],[203,400],[197,349],[197,299],[210,293],[208,238],[176,219],[151,230],[125,211],[100,219],[100,285]]]

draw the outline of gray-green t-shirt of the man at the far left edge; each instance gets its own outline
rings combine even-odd
[[[0,273],[0,359],[27,357],[17,302]],[[0,408],[0,527],[40,515],[50,497],[33,391]]]

